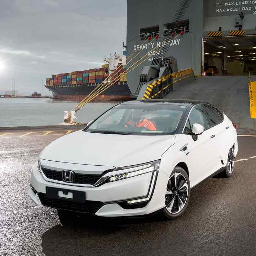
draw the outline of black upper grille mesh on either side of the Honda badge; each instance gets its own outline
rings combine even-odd
[[[54,171],[42,168],[44,175],[52,180],[63,181],[62,179],[62,172],[61,171]],[[75,180],[73,183],[79,184],[88,184],[94,185],[99,179],[101,175],[89,175],[89,174],[76,174],[75,173]]]

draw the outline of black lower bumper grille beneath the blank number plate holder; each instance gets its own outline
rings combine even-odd
[[[85,203],[77,203],[63,199],[49,198],[44,193],[38,193],[39,199],[44,206],[53,207],[63,210],[72,210],[81,213],[96,213],[103,205],[100,201],[86,201]]]

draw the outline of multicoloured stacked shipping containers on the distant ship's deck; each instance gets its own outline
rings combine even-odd
[[[108,74],[108,64],[102,65],[99,69],[73,71],[71,73],[52,75],[51,78],[46,79],[46,86],[100,84],[104,80],[105,74]]]

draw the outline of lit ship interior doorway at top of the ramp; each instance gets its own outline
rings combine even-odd
[[[256,36],[202,38],[202,75],[256,74]]]

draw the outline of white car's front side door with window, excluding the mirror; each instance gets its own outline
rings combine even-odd
[[[204,132],[192,134],[194,123],[201,124]],[[196,105],[190,111],[183,134],[187,135],[187,162],[190,165],[191,187],[207,178],[209,168],[212,168],[212,148],[209,146],[211,131],[203,105]]]

